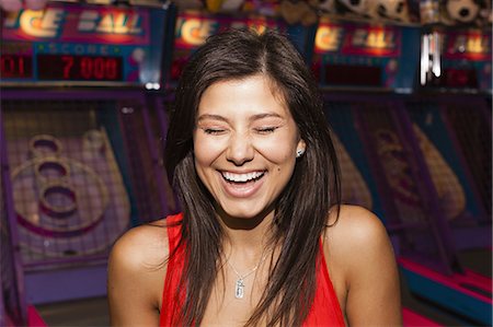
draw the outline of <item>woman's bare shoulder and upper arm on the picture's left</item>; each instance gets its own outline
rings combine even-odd
[[[107,269],[112,325],[157,325],[168,254],[164,220],[134,227],[114,244]]]

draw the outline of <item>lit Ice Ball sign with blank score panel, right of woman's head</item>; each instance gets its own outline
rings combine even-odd
[[[312,70],[321,85],[394,87],[401,39],[402,31],[394,26],[322,20]]]

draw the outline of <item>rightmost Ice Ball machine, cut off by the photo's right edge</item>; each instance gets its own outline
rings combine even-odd
[[[442,72],[427,73],[401,114],[425,157],[459,265],[447,279],[402,266],[414,293],[491,325],[491,31],[444,30],[439,37]]]

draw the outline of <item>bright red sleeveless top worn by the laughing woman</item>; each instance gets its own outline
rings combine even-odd
[[[170,253],[176,248],[180,242],[181,225],[176,224],[182,220],[182,214],[170,215],[167,218],[168,240],[170,243]],[[332,287],[329,271],[323,256],[322,247],[320,247],[319,265],[317,270],[317,290],[313,304],[310,308],[303,326],[345,326],[341,306],[337,301],[334,288]],[[162,294],[162,307],[160,313],[159,326],[174,327],[173,322],[181,310],[184,293],[180,294],[181,299],[175,297],[176,288],[184,266],[183,246],[180,247],[175,255],[168,262],[167,277],[164,280],[164,290]]]

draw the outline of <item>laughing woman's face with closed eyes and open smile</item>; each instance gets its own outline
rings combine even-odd
[[[277,199],[305,142],[268,78],[217,82],[204,92],[194,131],[195,167],[220,209],[253,218]]]

